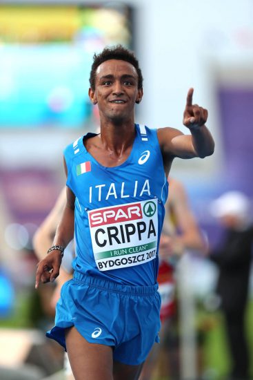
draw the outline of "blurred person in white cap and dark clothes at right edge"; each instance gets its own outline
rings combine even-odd
[[[246,380],[250,378],[245,312],[252,261],[252,207],[245,194],[228,191],[212,202],[210,211],[224,233],[219,246],[210,250],[209,257],[219,267],[216,292],[221,298],[232,359],[229,379]]]

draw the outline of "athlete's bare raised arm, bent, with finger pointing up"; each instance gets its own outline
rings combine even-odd
[[[205,158],[214,153],[214,140],[205,122],[208,119],[208,111],[192,104],[193,88],[188,91],[183,124],[190,130],[190,135],[184,135],[178,129],[161,128],[157,135],[165,162],[179,158]]]

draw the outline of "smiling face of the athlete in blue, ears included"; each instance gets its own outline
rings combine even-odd
[[[101,121],[119,123],[134,119],[134,105],[141,102],[136,69],[127,61],[110,59],[97,68],[94,91],[89,96],[98,104]]]

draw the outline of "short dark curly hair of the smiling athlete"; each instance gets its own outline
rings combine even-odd
[[[108,61],[109,59],[119,59],[122,61],[129,62],[134,66],[138,75],[138,88],[143,87],[143,76],[141,73],[141,68],[139,68],[139,61],[136,59],[134,52],[124,48],[122,45],[116,45],[111,47],[105,47],[101,53],[94,54],[93,56],[93,64],[90,70],[90,88],[92,91],[95,89],[95,81],[96,81],[96,71],[99,65],[103,64],[103,62]]]

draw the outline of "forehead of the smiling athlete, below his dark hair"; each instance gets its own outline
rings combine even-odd
[[[96,70],[97,77],[103,77],[104,75],[132,75],[138,77],[136,68],[127,61],[121,61],[120,59],[108,59],[98,66]]]

